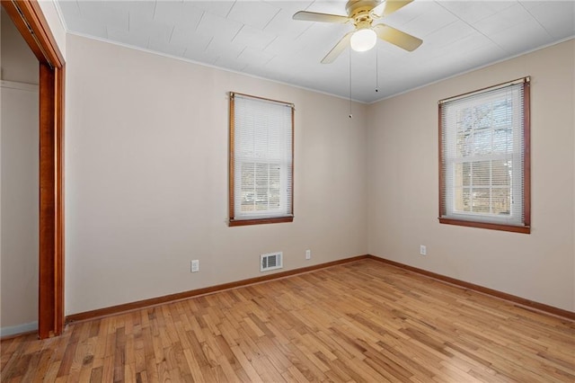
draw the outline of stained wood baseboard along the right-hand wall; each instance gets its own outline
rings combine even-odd
[[[535,302],[530,299],[517,297],[517,295],[508,294],[507,292],[499,291],[496,289],[489,289],[480,285],[476,285],[474,283],[456,280],[455,278],[447,277],[445,275],[441,275],[435,272],[428,272],[427,270],[419,269],[417,267],[409,266],[404,263],[399,263],[395,261],[391,261],[385,258],[380,258],[375,255],[368,254],[366,256],[368,259],[373,259],[378,262],[386,263],[392,265],[394,267],[398,267],[408,272],[416,272],[421,275],[425,275],[426,277],[433,278],[438,281],[444,281],[453,285],[456,285],[463,289],[472,289],[473,291],[481,292],[486,295],[490,295],[491,297],[500,298],[508,300],[509,302],[516,303],[517,305],[521,305],[524,307],[534,308],[535,310],[542,311],[546,314],[551,314],[553,316],[562,316],[571,320],[575,320],[575,312],[564,310],[559,307],[553,307],[549,305],[545,305],[544,303]]]

